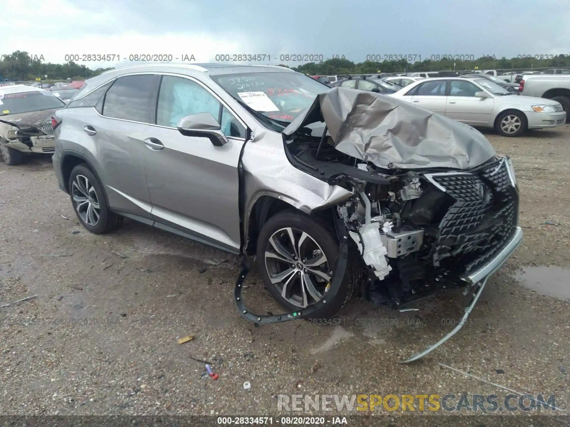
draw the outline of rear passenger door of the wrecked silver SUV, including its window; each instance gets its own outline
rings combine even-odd
[[[119,77],[97,103],[97,114],[85,123],[90,135],[97,173],[109,207],[152,224],[146,188],[143,141],[146,124],[154,123],[160,76],[139,74]]]

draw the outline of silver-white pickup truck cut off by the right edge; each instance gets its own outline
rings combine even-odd
[[[520,81],[520,95],[536,96],[560,102],[570,122],[570,75],[535,74]]]

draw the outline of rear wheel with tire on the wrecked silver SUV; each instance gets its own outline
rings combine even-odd
[[[69,189],[75,215],[89,232],[109,233],[123,223],[122,216],[109,210],[103,186],[85,163],[71,171]]]

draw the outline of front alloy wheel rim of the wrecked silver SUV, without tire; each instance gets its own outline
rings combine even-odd
[[[273,233],[264,261],[271,283],[287,302],[298,307],[320,301],[331,281],[331,266],[323,249],[297,228]]]

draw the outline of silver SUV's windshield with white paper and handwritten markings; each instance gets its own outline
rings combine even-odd
[[[212,77],[227,93],[273,120],[289,124],[327,85],[300,73],[240,73]]]

